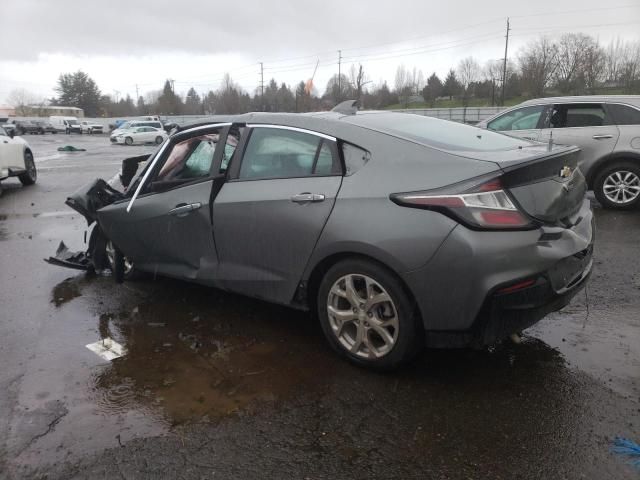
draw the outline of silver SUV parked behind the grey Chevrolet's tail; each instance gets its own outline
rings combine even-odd
[[[478,126],[529,140],[577,145],[578,165],[604,207],[640,206],[640,95],[529,100]]]

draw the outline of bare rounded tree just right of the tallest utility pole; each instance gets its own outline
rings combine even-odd
[[[528,93],[543,96],[558,66],[558,46],[548,37],[541,37],[520,51],[518,63]]]

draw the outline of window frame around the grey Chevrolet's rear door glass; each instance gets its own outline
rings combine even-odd
[[[321,132],[316,132],[314,130],[309,130],[306,128],[300,128],[300,127],[292,127],[289,125],[278,125],[278,124],[270,124],[270,123],[258,123],[258,124],[246,124],[245,127],[247,128],[247,130],[244,132],[244,135],[242,135],[242,138],[240,139],[240,143],[238,144],[238,146],[236,147],[236,153],[240,153],[240,155],[236,156],[234,154],[234,158],[232,159],[232,161],[230,162],[228,168],[227,168],[227,172],[228,172],[228,178],[227,181],[228,182],[255,182],[255,181],[264,181],[264,180],[287,180],[287,179],[298,179],[298,178],[323,178],[323,177],[336,177],[336,176],[344,176],[344,162],[342,160],[342,157],[340,155],[339,152],[339,148],[338,148],[338,139],[336,137],[333,137],[331,135],[327,135],[325,133],[321,133]],[[324,175],[314,175],[313,173],[310,175],[301,175],[301,176],[296,176],[296,177],[255,177],[255,178],[240,178],[240,170],[242,168],[242,163],[244,161],[245,158],[245,154],[247,151],[247,147],[249,145],[249,142],[251,141],[251,136],[253,134],[253,132],[258,129],[258,128],[271,128],[273,130],[288,130],[288,131],[294,131],[294,132],[299,132],[299,133],[304,133],[307,135],[312,135],[315,137],[319,137],[321,139],[321,141],[318,142],[318,146],[316,147],[316,153],[313,159],[313,166],[312,166],[312,170],[315,169],[315,166],[317,164],[317,160],[318,160],[318,155],[319,152],[322,148],[322,143],[324,141],[327,141],[330,149],[331,149],[331,156],[332,156],[332,160],[333,160],[333,167],[337,170],[339,170],[338,172],[335,173],[330,173],[330,174],[324,174]]]

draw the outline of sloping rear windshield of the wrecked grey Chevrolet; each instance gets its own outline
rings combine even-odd
[[[478,152],[531,145],[490,130],[407,113],[356,115],[353,123],[442,150]]]

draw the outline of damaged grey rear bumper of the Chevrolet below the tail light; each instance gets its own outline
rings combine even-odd
[[[564,307],[592,268],[588,201],[572,228],[474,232],[457,227],[422,269],[403,275],[420,309],[427,344],[490,344]],[[526,281],[525,288],[509,287]]]

